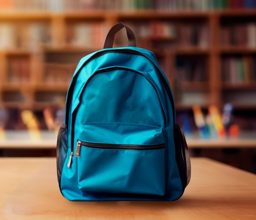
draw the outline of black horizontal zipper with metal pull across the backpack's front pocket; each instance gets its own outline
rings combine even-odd
[[[102,144],[102,143],[91,143],[91,142],[83,142],[77,139],[76,144],[76,152],[75,156],[80,156],[80,149],[81,146],[83,147],[90,147],[96,149],[119,149],[119,150],[158,150],[163,149],[164,144],[157,144],[157,145],[139,145],[139,144]]]

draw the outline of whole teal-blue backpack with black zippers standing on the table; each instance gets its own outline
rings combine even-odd
[[[123,27],[128,47],[113,47]],[[83,57],[67,91],[57,176],[72,201],[180,198],[191,166],[168,80],[134,33],[113,26],[104,49]]]

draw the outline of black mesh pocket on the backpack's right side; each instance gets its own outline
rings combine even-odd
[[[189,184],[191,177],[191,163],[189,149],[180,125],[174,125],[175,157],[180,172],[183,189]]]

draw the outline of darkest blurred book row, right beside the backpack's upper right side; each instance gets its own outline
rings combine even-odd
[[[181,81],[202,82],[208,79],[207,60],[202,57],[177,56],[175,78]]]

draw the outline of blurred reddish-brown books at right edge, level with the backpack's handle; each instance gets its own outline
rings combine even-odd
[[[223,46],[256,47],[256,22],[236,23],[221,28]]]

